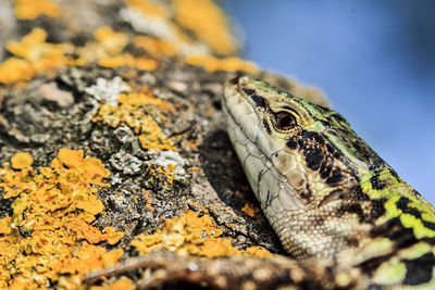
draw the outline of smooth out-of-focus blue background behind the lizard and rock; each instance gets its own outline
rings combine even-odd
[[[435,1],[226,0],[243,56],[318,86],[435,204]]]

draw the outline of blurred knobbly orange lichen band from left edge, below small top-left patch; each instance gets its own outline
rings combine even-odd
[[[21,41],[9,41],[7,49],[15,56],[0,64],[0,83],[27,80],[46,70],[96,61],[104,67],[125,65],[141,71],[153,71],[158,66],[156,60],[123,52],[128,45],[128,37],[105,26],[96,30],[96,41],[89,41],[82,48],[69,42],[48,43],[46,39],[47,33],[44,29],[34,28]]]

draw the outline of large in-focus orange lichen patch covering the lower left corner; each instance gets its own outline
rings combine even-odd
[[[80,150],[61,149],[50,167],[34,169],[25,159],[21,169],[0,168],[3,198],[16,198],[12,216],[0,219],[0,288],[45,289],[49,281],[76,288],[89,270],[114,264],[123,254],[92,244],[114,244],[124,235],[89,224],[102,212],[96,194],[108,186],[109,171]]]

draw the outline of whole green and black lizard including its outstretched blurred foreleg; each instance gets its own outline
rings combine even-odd
[[[225,85],[223,115],[253,193],[288,257],[178,257],[144,279],[217,289],[435,289],[435,209],[337,112],[248,76]]]

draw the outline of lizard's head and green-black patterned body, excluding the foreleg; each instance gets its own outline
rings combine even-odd
[[[435,209],[339,114],[249,77],[227,84],[223,110],[290,256],[357,268],[380,287],[435,288]]]

